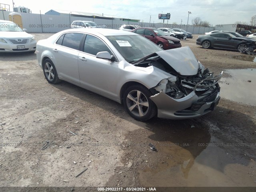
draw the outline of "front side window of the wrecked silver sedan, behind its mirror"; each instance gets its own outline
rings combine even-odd
[[[84,42],[84,50],[85,53],[89,53],[92,55],[97,55],[98,52],[107,51],[111,54],[110,49],[102,40],[96,38],[91,35],[86,35],[86,39]]]

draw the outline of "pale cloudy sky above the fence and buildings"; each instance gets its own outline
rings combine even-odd
[[[44,14],[51,9],[98,14],[115,15],[121,18],[139,19],[143,22],[158,23],[159,13],[170,13],[168,23],[192,24],[192,19],[200,17],[213,26],[250,23],[256,15],[256,0],[13,0],[15,6],[25,6],[32,13]],[[0,0],[9,4],[12,11],[12,0]],[[188,11],[191,12],[188,18]],[[151,19],[150,19],[151,16]],[[165,20],[167,23],[167,20]]]

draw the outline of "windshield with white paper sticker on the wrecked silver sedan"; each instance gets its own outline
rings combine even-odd
[[[154,52],[160,47],[140,35],[106,36],[127,62],[134,62]]]

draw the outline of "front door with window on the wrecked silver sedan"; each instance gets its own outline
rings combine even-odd
[[[102,51],[112,54],[101,39],[86,35],[82,52],[78,54],[80,84],[117,98],[118,62],[96,58],[96,54]]]

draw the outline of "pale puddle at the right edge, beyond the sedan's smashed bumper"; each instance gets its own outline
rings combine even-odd
[[[256,69],[226,70],[230,78],[221,78],[220,96],[256,106]]]

